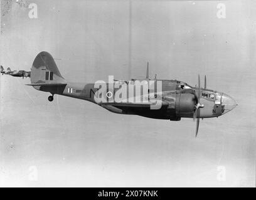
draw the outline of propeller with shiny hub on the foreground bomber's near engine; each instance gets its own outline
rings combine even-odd
[[[206,86],[206,78],[205,78],[205,86]],[[193,119],[196,119],[196,136],[198,134],[198,128],[200,123],[200,108],[204,108],[203,104],[200,104],[200,96],[201,96],[201,86],[200,86],[200,75],[198,74],[198,93],[195,93],[195,109],[193,114]]]

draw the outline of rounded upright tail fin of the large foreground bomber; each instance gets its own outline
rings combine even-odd
[[[31,68],[31,83],[66,83],[50,53],[39,53]]]

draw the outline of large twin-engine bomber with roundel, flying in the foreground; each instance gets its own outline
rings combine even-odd
[[[125,86],[124,88],[129,88],[128,93],[131,90],[131,93],[134,94],[135,89],[132,89],[136,87],[134,81],[136,79],[132,79],[132,81],[114,80],[114,84],[118,83],[119,86]],[[96,83],[68,82],[61,76],[53,57],[47,52],[41,52],[33,62],[31,84],[28,85],[39,91],[51,93],[51,96],[48,97],[49,101],[53,101],[54,94],[59,94],[90,101],[118,114],[136,114],[147,118],[169,119],[171,121],[193,118],[196,119],[196,135],[198,134],[200,118],[218,118],[218,116],[228,113],[237,106],[235,100],[227,94],[206,89],[206,77],[205,87],[201,88],[199,75],[197,87],[189,86],[187,83],[177,80],[156,78],[151,80],[147,66],[147,76],[144,81],[146,84],[153,83],[153,85],[161,83],[161,91],[159,92],[158,85],[157,91],[149,86],[146,95],[143,94],[138,98],[135,94],[132,98],[129,96],[129,98],[122,98],[122,101],[114,101],[113,96],[117,93],[120,94],[120,87],[113,88],[110,85],[113,83],[106,83],[105,93],[99,94],[99,91],[103,91],[104,84],[100,88],[95,87]],[[99,101],[103,96],[106,97],[106,101]],[[147,101],[134,101],[134,99],[146,99]]]

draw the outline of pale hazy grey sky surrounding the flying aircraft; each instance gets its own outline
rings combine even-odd
[[[201,121],[195,139],[192,119],[118,115],[63,96],[49,103],[29,79],[0,76],[0,186],[255,186],[255,1],[6,2],[5,68],[29,71],[48,51],[68,81],[94,83],[144,78],[149,61],[151,77],[194,86],[206,74],[208,88],[239,106]]]

